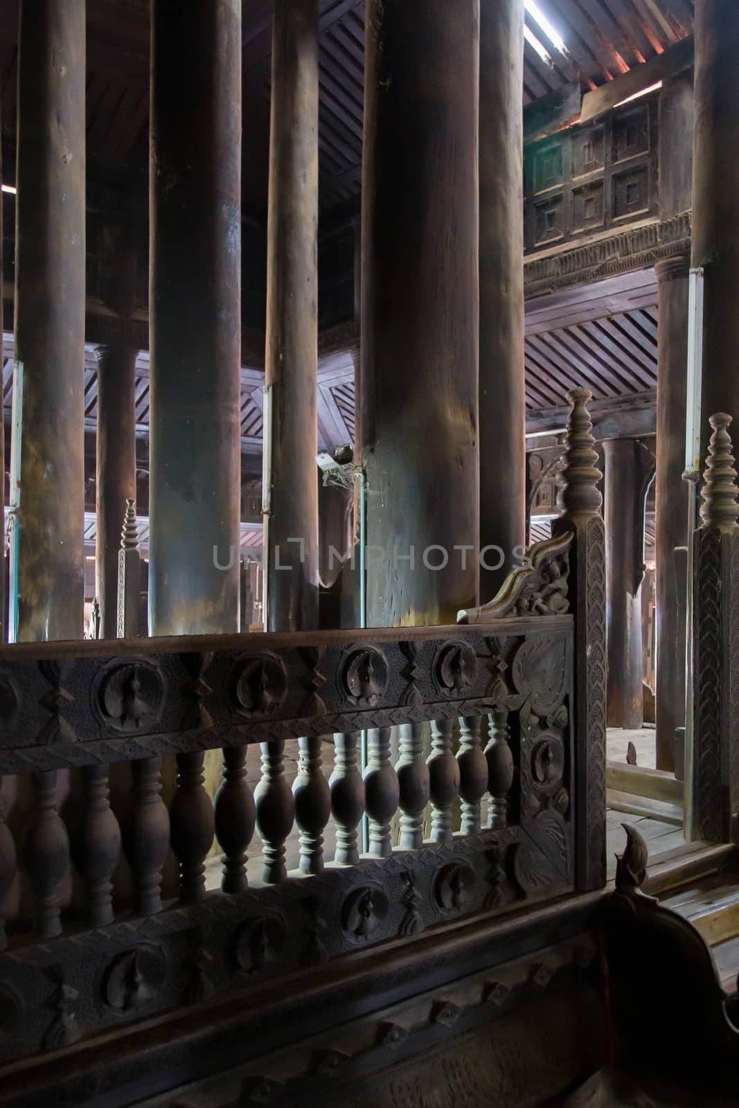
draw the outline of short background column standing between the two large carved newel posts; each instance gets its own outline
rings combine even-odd
[[[606,595],[608,623],[608,727],[642,727],[642,605],[644,530],[638,525],[642,485],[634,439],[606,439]],[[642,499],[644,513],[644,500]]]

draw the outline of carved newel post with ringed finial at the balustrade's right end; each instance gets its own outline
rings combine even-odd
[[[567,393],[572,404],[554,535],[572,533],[569,598],[575,617],[575,841],[578,889],[606,882],[606,556],[593,449],[588,389]]]

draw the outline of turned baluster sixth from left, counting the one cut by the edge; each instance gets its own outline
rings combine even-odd
[[[256,807],[246,783],[246,747],[223,751],[220,784],[213,801],[216,838],[223,848],[220,888],[225,893],[243,893],[248,885],[246,851],[254,838]]]

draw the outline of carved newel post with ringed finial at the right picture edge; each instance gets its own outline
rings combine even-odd
[[[739,808],[739,503],[728,427],[714,429],[704,475],[702,526],[692,536],[694,835],[730,842]]]

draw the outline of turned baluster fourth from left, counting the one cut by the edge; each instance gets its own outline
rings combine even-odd
[[[162,866],[170,847],[170,813],[162,800],[162,759],[131,766],[131,810],[124,822],[123,850],[133,873],[138,915],[162,911]]]

